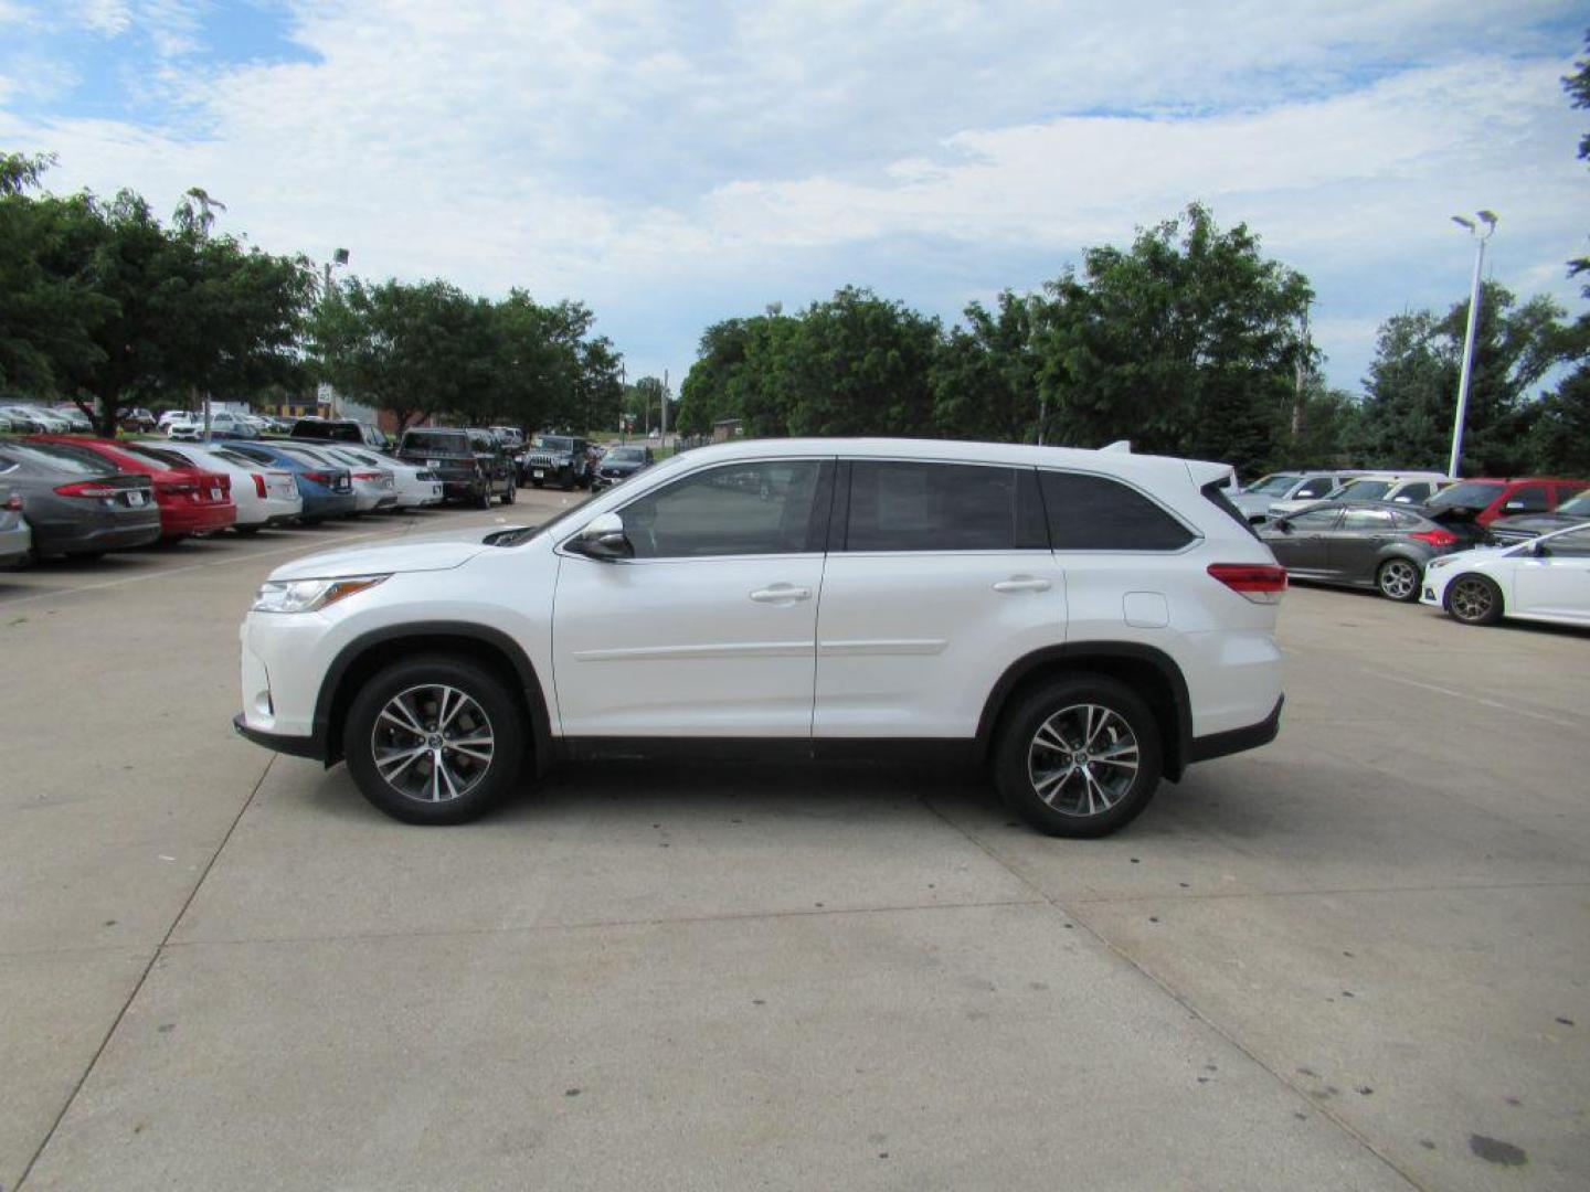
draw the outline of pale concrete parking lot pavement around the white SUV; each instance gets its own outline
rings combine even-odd
[[[1280,741],[1096,842],[870,768],[423,831],[234,737],[272,566],[529,510],[0,572],[0,1186],[1590,1186],[1590,636],[1294,590]]]

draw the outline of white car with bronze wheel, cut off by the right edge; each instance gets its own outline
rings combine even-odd
[[[1420,599],[1464,625],[1503,617],[1590,625],[1590,524],[1434,558],[1425,566]]]

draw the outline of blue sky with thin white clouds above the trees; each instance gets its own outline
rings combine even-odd
[[[954,319],[1188,200],[1380,319],[1488,272],[1579,308],[1590,113],[1560,0],[0,0],[0,149],[189,186],[273,251],[577,297],[674,386],[716,319],[844,283]]]

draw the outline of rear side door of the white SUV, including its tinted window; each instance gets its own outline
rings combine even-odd
[[[1065,582],[1030,467],[840,467],[812,734],[971,737],[1011,661],[1059,645]]]

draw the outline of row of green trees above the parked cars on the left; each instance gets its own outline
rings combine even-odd
[[[304,402],[321,381],[401,428],[617,423],[622,358],[579,302],[326,284],[304,254],[216,234],[202,189],[162,223],[132,191],[45,191],[51,164],[0,153],[0,394],[73,401],[107,435],[132,407]]]

